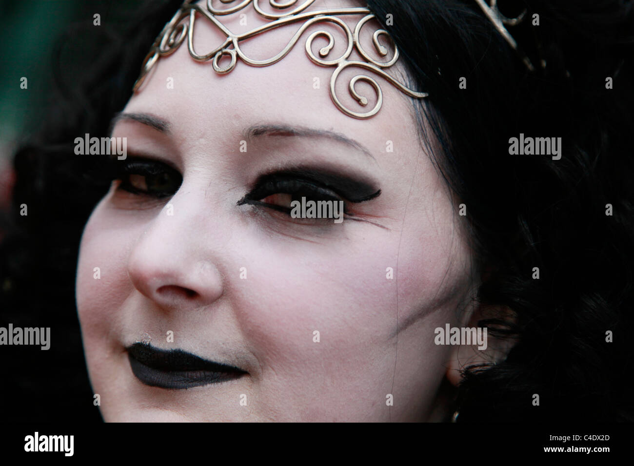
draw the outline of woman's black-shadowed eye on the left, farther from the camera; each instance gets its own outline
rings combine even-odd
[[[130,159],[116,161],[116,175],[121,183],[117,189],[155,198],[173,196],[183,183],[181,174],[168,165],[154,160]]]

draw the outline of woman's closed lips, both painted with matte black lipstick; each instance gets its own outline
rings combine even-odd
[[[136,378],[150,387],[188,389],[238,379],[247,373],[182,349],[159,349],[145,343],[128,347],[127,354]]]

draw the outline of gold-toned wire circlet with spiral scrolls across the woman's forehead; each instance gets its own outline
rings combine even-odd
[[[230,4],[235,3],[236,0],[220,0],[221,3]],[[269,4],[277,9],[277,10],[287,10],[288,8],[297,4],[298,0],[290,0],[290,1],[278,1],[278,0],[269,0]],[[380,62],[374,60],[368,53],[366,53],[363,46],[359,42],[359,33],[361,32],[361,28],[365,25],[366,22],[375,18],[375,16],[368,10],[367,8],[328,8],[324,10],[316,10],[316,11],[304,11],[311,4],[314,3],[315,0],[306,0],[297,8],[294,8],[292,11],[288,11],[287,13],[266,13],[262,10],[260,6],[260,0],[243,0],[240,4],[235,6],[231,6],[230,8],[226,8],[224,10],[218,10],[212,6],[212,0],[207,0],[206,9],[198,4],[191,3],[191,0],[186,0],[179,10],[176,12],[174,17],[170,20],[169,23],[165,25],[163,30],[160,32],[159,36],[155,40],[152,48],[150,49],[150,53],[143,60],[143,65],[141,67],[141,75],[134,83],[133,91],[138,91],[145,81],[145,78],[149,74],[150,70],[154,67],[156,62],[159,60],[161,56],[170,55],[179,46],[183,43],[185,37],[187,37],[188,42],[188,50],[191,57],[196,61],[209,61],[212,60],[212,66],[214,71],[218,74],[226,74],[233,70],[236,65],[238,57],[247,63],[248,65],[254,67],[265,67],[268,65],[273,65],[277,61],[280,61],[284,58],[288,52],[295,46],[295,43],[299,41],[299,37],[304,33],[304,31],[314,23],[318,22],[330,22],[339,25],[341,29],[346,33],[347,37],[347,49],[344,55],[340,56],[336,60],[327,60],[326,57],[328,53],[332,50],[334,46],[334,38],[330,32],[326,30],[318,30],[313,32],[306,39],[306,54],[310,58],[313,63],[321,65],[323,67],[335,67],[332,76],[330,77],[330,97],[335,105],[346,115],[349,115],[358,119],[367,119],[376,115],[383,104],[383,93],[381,91],[378,82],[375,81],[372,77],[368,75],[356,75],[354,76],[349,83],[349,91],[351,96],[361,105],[365,107],[368,105],[368,99],[365,96],[361,96],[356,92],[354,86],[358,81],[365,81],[370,84],[375,93],[377,94],[377,103],[368,112],[359,113],[346,108],[343,103],[337,97],[335,93],[335,82],[337,81],[337,77],[339,74],[348,67],[359,67],[365,68],[366,70],[372,71],[374,74],[380,75],[386,81],[389,81],[392,85],[396,86],[401,92],[407,94],[413,98],[425,98],[429,94],[420,93],[417,91],[412,91],[408,89],[408,87],[401,84],[401,82],[397,81],[391,75],[387,74],[383,68],[389,68],[398,60],[398,48],[394,45],[394,56],[392,56],[391,60],[386,62]],[[233,34],[229,29],[227,29],[223,23],[221,23],[217,16],[230,15],[231,13],[235,13],[236,11],[240,11],[245,8],[247,5],[253,4],[254,9],[257,13],[263,18],[272,20],[272,22],[268,24],[264,24],[260,27],[256,27],[256,29],[252,29],[249,32],[245,32],[243,34]],[[226,40],[216,49],[210,51],[205,55],[199,55],[194,50],[193,46],[193,30],[194,23],[196,19],[196,13],[200,13],[204,15],[207,19],[209,19],[216,27],[221,30],[226,36]],[[354,31],[350,29],[346,22],[342,21],[337,16],[333,15],[362,15],[365,14],[361,20],[354,27]],[[189,17],[189,21],[183,21],[184,18]],[[280,53],[269,58],[268,60],[252,60],[248,56],[243,53],[240,48],[240,42],[249,39],[249,37],[257,36],[258,34],[262,34],[263,32],[267,32],[268,30],[275,29],[277,27],[287,25],[289,23],[295,23],[305,20],[305,22],[301,25],[301,27],[295,32],[294,36],[290,39],[287,46],[283,48]],[[374,32],[372,36],[373,45],[380,56],[387,56],[388,51],[384,45],[379,42],[379,36],[385,35],[389,37],[389,33],[384,29],[378,29]],[[314,55],[313,49],[311,48],[313,44],[313,40],[315,37],[323,36],[328,39],[328,45],[321,48],[319,51],[319,57]],[[231,48],[232,47],[232,48]],[[351,55],[353,49],[356,48],[359,55],[361,55],[366,61],[358,61],[358,60],[348,60]],[[224,67],[219,65],[219,62],[223,55],[227,55],[230,57],[230,63]]]

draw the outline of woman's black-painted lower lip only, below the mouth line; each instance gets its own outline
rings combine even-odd
[[[207,370],[165,371],[146,366],[128,354],[132,372],[143,384],[150,387],[183,390],[202,385],[219,384],[239,379],[244,373],[210,372]]]

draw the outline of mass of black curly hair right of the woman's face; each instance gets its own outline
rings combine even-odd
[[[534,72],[475,2],[367,3],[430,94],[415,108],[467,207],[486,271],[478,301],[513,311],[480,323],[517,344],[502,363],[466,368],[458,420],[634,420],[633,3],[519,2],[527,21],[538,15],[513,33]],[[561,159],[510,155],[522,133],[562,138]]]

